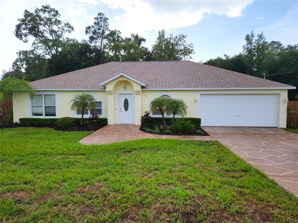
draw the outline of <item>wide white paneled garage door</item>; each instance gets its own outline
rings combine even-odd
[[[277,126],[277,95],[201,95],[202,126]]]

